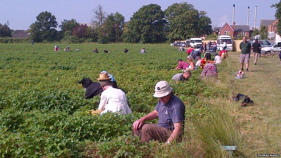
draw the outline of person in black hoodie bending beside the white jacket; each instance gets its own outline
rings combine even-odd
[[[89,78],[83,78],[81,81],[78,82],[82,84],[84,88],[86,88],[85,92],[85,99],[93,98],[94,96],[98,96],[103,92],[103,89],[100,87],[100,83],[93,82]]]

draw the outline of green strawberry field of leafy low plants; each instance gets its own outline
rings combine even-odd
[[[206,88],[199,79],[201,69],[192,72],[188,82],[172,81],[181,72],[172,69],[186,53],[168,44],[71,44],[71,52],[62,51],[67,46],[62,44],[61,51],[54,52],[54,45],[58,44],[0,44],[0,157],[168,156],[192,144],[193,128],[185,128],[184,141],[172,144],[171,151],[131,137],[132,123],[158,101],[152,96],[155,84],[166,80],[173,87],[185,103],[187,125],[212,113],[210,96],[226,94]],[[140,54],[142,47],[148,53]],[[92,52],[95,48],[98,54]],[[100,98],[85,100],[85,90],[77,82],[84,77],[96,81],[102,70],[113,74],[126,92],[132,114],[87,114],[97,109]]]

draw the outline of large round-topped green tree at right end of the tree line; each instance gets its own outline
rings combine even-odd
[[[165,18],[168,21],[167,38],[189,39],[212,33],[211,19],[205,11],[198,12],[194,6],[184,3],[174,3],[165,10]]]

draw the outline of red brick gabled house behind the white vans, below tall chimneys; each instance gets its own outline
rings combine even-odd
[[[233,22],[233,25],[229,25],[229,23],[226,22],[219,30],[219,35],[230,35],[234,38],[236,38],[239,33],[249,37],[250,27],[248,25],[235,25],[235,22]]]

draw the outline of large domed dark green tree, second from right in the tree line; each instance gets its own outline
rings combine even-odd
[[[164,12],[157,4],[144,5],[130,18],[123,33],[125,42],[159,43],[165,41]]]

